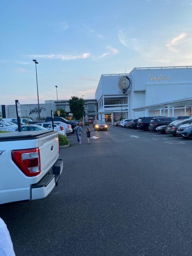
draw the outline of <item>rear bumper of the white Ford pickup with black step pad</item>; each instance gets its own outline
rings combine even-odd
[[[63,159],[58,159],[49,172],[37,183],[31,186],[31,200],[46,197],[55,186],[63,171]]]

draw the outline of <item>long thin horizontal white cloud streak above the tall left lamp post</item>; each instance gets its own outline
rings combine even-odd
[[[31,58],[44,58],[44,59],[61,59],[62,61],[69,60],[69,59],[85,59],[90,56],[90,53],[82,53],[80,55],[62,55],[62,54],[45,54],[45,55],[27,55]]]

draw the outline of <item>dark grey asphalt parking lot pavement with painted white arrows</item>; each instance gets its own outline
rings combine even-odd
[[[0,205],[16,255],[191,255],[192,139],[91,132],[68,135],[46,198]]]

